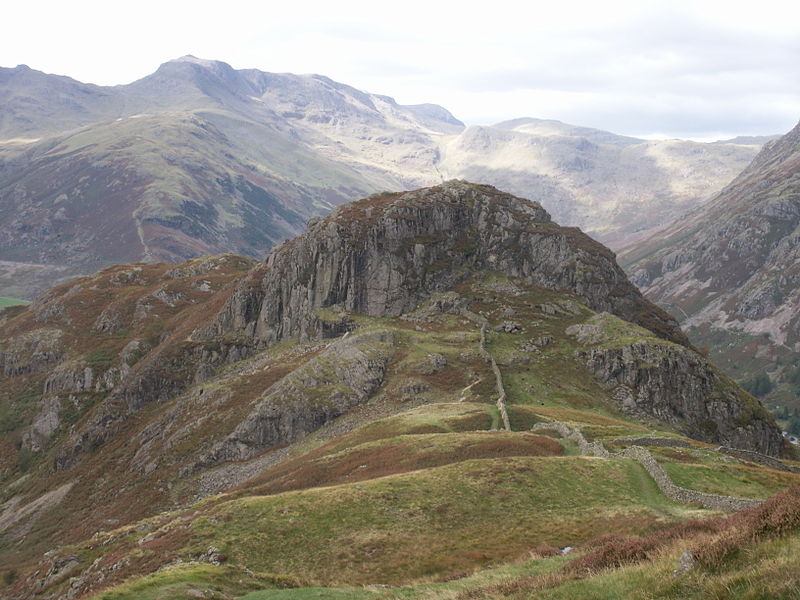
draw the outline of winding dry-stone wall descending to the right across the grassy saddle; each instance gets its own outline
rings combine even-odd
[[[601,442],[587,442],[586,438],[583,437],[583,434],[579,430],[572,429],[565,423],[559,421],[536,423],[531,428],[531,431],[542,431],[545,429],[556,431],[561,437],[574,441],[583,455],[598,456],[600,458],[632,458],[636,460],[655,480],[658,489],[674,502],[680,504],[700,504],[704,508],[711,510],[724,510],[729,512],[753,508],[762,503],[761,500],[736,498],[719,494],[706,494],[705,492],[698,492],[677,486],[672,479],[670,479],[664,468],[658,464],[658,461],[656,461],[653,455],[650,454],[646,448],[641,446],[630,446],[620,452],[611,453],[606,450]]]

